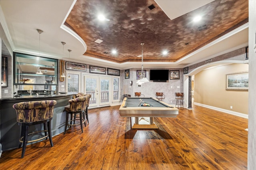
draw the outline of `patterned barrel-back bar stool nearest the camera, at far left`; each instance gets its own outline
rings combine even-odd
[[[21,135],[20,135],[20,145],[19,145],[19,148],[20,148],[21,144],[23,144],[21,158],[24,157],[27,143],[39,141],[44,138],[47,139],[49,137],[50,144],[53,147],[51,120],[53,117],[54,106],[56,104],[57,102],[55,100],[40,100],[40,101],[32,101],[32,102],[20,102],[12,106],[17,113],[17,122],[19,125],[21,125]],[[37,125],[37,124],[43,124],[44,130],[28,133],[28,127],[31,125]],[[40,139],[28,141],[28,135],[32,135],[38,132],[44,132],[45,136]]]

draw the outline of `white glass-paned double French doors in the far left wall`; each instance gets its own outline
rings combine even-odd
[[[92,107],[110,105],[110,77],[84,75],[84,92],[91,94]]]

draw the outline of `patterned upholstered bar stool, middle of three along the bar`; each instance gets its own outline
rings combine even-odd
[[[66,123],[65,123],[65,130],[64,134],[66,133],[66,129],[69,126],[75,126],[75,125],[80,125],[81,126],[81,131],[83,131],[83,123],[86,126],[85,123],[85,115],[84,115],[84,110],[86,110],[86,101],[87,101],[88,96],[81,96],[77,97],[71,100],[68,100],[70,106],[65,107],[66,111]],[[79,113],[79,119],[76,119],[76,116],[74,116],[74,119],[72,119],[73,114]],[[70,114],[70,121],[68,120]],[[75,123],[76,120],[80,120],[80,123]],[[74,123],[72,124],[72,121]]]

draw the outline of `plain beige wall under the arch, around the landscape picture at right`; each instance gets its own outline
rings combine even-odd
[[[248,91],[226,90],[226,74],[243,71],[248,71],[248,64],[202,70],[194,77],[194,102],[248,114]]]

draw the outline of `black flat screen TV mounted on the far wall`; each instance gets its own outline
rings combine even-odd
[[[150,80],[154,82],[166,82],[169,80],[169,70],[150,70]]]

